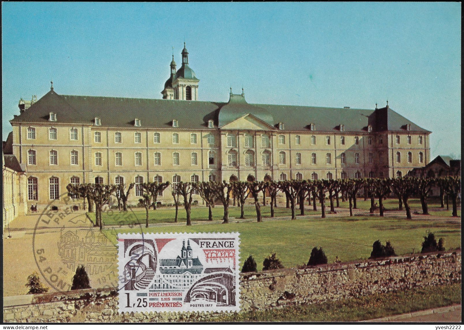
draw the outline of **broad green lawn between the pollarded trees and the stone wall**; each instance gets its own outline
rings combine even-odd
[[[265,208],[264,214],[268,212]],[[449,220],[430,220],[427,218],[415,218],[406,220],[402,216],[390,216],[380,218],[378,216],[363,217],[309,217],[305,219],[271,220],[264,218],[264,222],[258,223],[253,219],[253,207],[246,207],[245,216],[250,216],[248,220],[231,220],[229,224],[221,224],[220,221],[209,222],[207,220],[194,221],[193,226],[185,226],[185,219],[180,218],[178,225],[172,224],[172,212],[169,209],[158,209],[150,211],[150,215],[155,215],[158,223],[155,227],[145,228],[144,211],[137,211],[133,216],[136,223],[135,214],[142,223],[132,228],[119,226],[116,216],[104,218],[105,233],[116,242],[117,233],[140,232],[144,233],[159,232],[239,232],[240,233],[240,265],[252,254],[258,264],[258,269],[262,266],[263,259],[271,252],[277,252],[277,257],[281,259],[285,267],[293,267],[308,262],[310,251],[314,246],[322,246],[329,263],[334,262],[338,256],[342,261],[358,260],[368,258],[372,251],[372,244],[380,239],[382,243],[390,240],[397,254],[407,254],[420,252],[423,236],[427,231],[435,233],[436,238],[445,239],[445,247],[455,248],[461,242],[460,220],[450,217]],[[239,208],[231,207],[231,216],[238,216]],[[290,210],[279,207],[277,212],[280,215],[288,215]],[[129,212],[130,213],[130,212]],[[220,220],[222,208],[214,210],[215,219]],[[114,214],[118,215],[119,212]],[[185,214],[180,208],[179,214]],[[196,215],[194,215],[196,214]],[[207,208],[193,208],[192,217],[205,219]],[[111,225],[111,219],[114,224]],[[108,222],[106,222],[108,221]],[[130,221],[129,221],[130,222]],[[170,222],[171,224],[164,223]],[[112,228],[110,228],[113,226]]]

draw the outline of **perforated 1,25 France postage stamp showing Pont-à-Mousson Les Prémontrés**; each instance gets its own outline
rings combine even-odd
[[[118,234],[119,311],[239,311],[239,233]]]

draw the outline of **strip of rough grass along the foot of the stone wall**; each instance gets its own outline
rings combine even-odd
[[[407,291],[380,293],[318,304],[292,305],[282,309],[223,314],[204,321],[354,322],[460,303],[461,284],[451,284],[413,288]]]

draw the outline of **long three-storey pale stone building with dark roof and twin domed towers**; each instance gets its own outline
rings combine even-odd
[[[46,205],[69,183],[397,177],[429,162],[431,132],[388,103],[249,104],[243,90],[226,103],[198,101],[185,47],[180,69],[174,57],[170,68],[163,99],[60,95],[52,85],[21,102],[9,141],[37,192],[28,199]],[[136,186],[131,201],[139,194]]]

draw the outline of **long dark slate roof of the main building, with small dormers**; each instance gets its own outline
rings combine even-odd
[[[229,102],[181,101],[163,99],[141,99],[126,97],[93,97],[58,95],[51,90],[36,103],[15,116],[11,123],[53,123],[49,113],[57,114],[57,123],[93,124],[94,118],[101,119],[102,127],[134,128],[134,119],[141,120],[141,128],[171,128],[176,119],[179,129],[208,129],[208,120],[215,126],[251,113],[266,123],[275,126],[284,123],[285,130],[308,131],[314,123],[316,132],[336,132],[345,125],[346,132],[373,131],[430,131],[419,127],[390,108],[377,110],[310,107],[275,104],[248,104],[245,97],[232,95]]]

